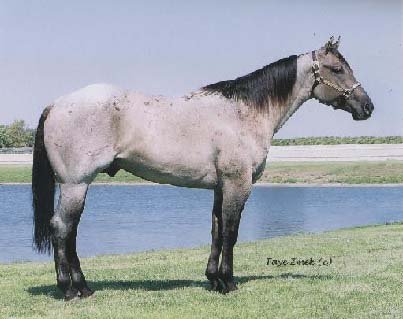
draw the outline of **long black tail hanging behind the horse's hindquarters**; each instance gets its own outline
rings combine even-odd
[[[32,165],[32,207],[34,210],[33,241],[40,253],[50,253],[52,230],[50,219],[54,213],[55,179],[44,142],[44,123],[51,110],[48,106],[39,119],[35,135]]]

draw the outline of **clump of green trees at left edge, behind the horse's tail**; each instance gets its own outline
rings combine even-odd
[[[28,127],[23,120],[0,125],[0,148],[32,147],[34,140],[35,129]]]

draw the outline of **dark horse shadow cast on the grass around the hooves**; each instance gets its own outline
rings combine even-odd
[[[267,279],[311,279],[311,280],[330,280],[332,276],[322,275],[304,275],[294,273],[283,273],[276,276],[261,275],[261,276],[239,276],[235,277],[235,281],[239,284],[245,284],[249,281],[267,280]],[[89,281],[88,285],[95,291],[102,290],[145,290],[145,291],[161,291],[172,290],[186,287],[202,287],[208,290],[210,284],[207,280],[102,280]],[[62,299],[63,294],[54,285],[44,285],[37,287],[29,287],[27,291],[31,295],[45,295],[55,299]]]

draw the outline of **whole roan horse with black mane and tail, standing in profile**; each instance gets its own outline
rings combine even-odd
[[[274,133],[312,98],[354,120],[368,119],[374,109],[339,43],[332,37],[317,50],[183,97],[94,84],[47,106],[33,151],[33,242],[40,253],[53,248],[65,300],[93,294],[76,251],[77,227],[91,182],[120,169],[155,183],[214,191],[205,275],[212,291],[236,290],[233,248],[241,213]]]

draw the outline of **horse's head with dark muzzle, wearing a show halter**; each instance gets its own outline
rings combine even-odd
[[[339,43],[340,37],[336,42],[331,37],[324,47],[312,52],[313,97],[334,109],[351,113],[354,120],[366,120],[371,116],[374,105],[338,51]]]

